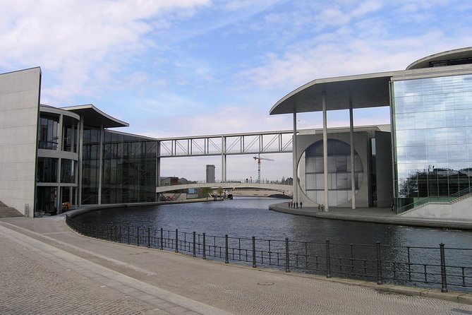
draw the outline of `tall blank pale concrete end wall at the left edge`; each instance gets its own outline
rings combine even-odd
[[[0,74],[0,200],[33,216],[41,69]]]

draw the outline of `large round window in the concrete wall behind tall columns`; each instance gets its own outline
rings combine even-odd
[[[350,201],[351,190],[351,146],[337,139],[327,139],[329,206],[338,206]],[[354,176],[356,191],[363,180],[361,157],[354,152]],[[325,202],[323,166],[323,142],[317,141],[305,150],[306,194],[316,203]]]

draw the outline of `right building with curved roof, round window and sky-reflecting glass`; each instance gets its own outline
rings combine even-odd
[[[391,137],[371,138],[375,177],[353,126],[353,109],[368,107],[389,107],[392,121]],[[327,129],[327,112],[338,109],[350,114],[342,134]],[[322,112],[322,135],[310,145],[296,136],[302,112]],[[279,100],[270,114],[294,117],[296,201],[328,210],[385,206],[390,199],[397,213],[411,217],[472,219],[472,47],[433,54],[404,71],[316,79]],[[387,169],[392,177],[380,176]]]

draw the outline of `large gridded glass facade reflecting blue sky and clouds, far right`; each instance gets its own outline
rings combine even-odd
[[[471,191],[472,75],[394,81],[399,212]]]

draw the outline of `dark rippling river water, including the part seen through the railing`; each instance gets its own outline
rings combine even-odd
[[[447,282],[453,285],[455,290],[472,291],[471,231],[329,220],[268,210],[270,204],[279,202],[283,200],[234,198],[234,200],[207,203],[98,210],[79,215],[76,219],[87,225],[140,227],[140,229],[131,229],[132,232],[137,230],[145,232],[145,229],[150,227],[154,237],[156,237],[154,229],[158,231],[163,228],[168,231],[166,233],[169,235],[169,242],[171,242],[171,237],[174,237],[173,231],[178,229],[181,235],[179,239],[187,237],[189,241],[186,243],[187,251],[190,251],[191,233],[195,231],[201,236],[205,232],[209,254],[214,245],[213,249],[219,249],[220,253],[218,255],[214,252],[213,256],[214,258],[219,256],[220,259],[222,258],[221,250],[224,249],[224,235],[228,234],[231,251],[236,249],[238,261],[242,260],[242,263],[249,264],[251,259],[248,256],[251,256],[252,246],[250,237],[255,237],[258,239],[255,245],[258,248],[258,264],[265,263],[267,266],[267,257],[271,257],[277,259],[278,268],[284,268],[284,262],[279,263],[279,256],[276,255],[284,257],[286,249],[284,240],[288,237],[291,268],[297,268],[301,272],[320,274],[325,274],[327,271],[323,261],[327,261],[325,241],[329,239],[331,244],[329,256],[333,264],[337,263],[337,266],[333,267],[334,272],[340,276],[353,278],[363,278],[368,273],[370,280],[375,279],[377,261],[375,242],[380,242],[383,278],[399,284],[418,285],[419,283],[420,286],[435,288],[441,284],[439,244],[444,243],[449,277]],[[107,231],[109,227],[99,230]],[[126,231],[129,230],[126,229]],[[184,234],[184,232],[190,234]],[[142,242],[146,242],[145,235],[147,234],[142,235]],[[199,243],[198,256],[201,254],[200,236],[197,241]],[[127,237],[129,242],[129,234]],[[268,239],[272,241],[269,242]],[[277,240],[282,242],[277,242]],[[354,246],[349,244],[354,244]],[[172,249],[174,245],[168,248]],[[470,250],[461,250],[464,248]],[[238,251],[238,249],[243,249],[243,251]],[[265,251],[265,254],[261,251]],[[242,255],[238,255],[241,253]],[[265,262],[262,262],[264,260],[262,256],[265,256]],[[410,262],[411,265],[407,264]],[[366,263],[369,266],[368,271],[363,268]],[[269,265],[273,267],[270,261]],[[351,271],[350,275],[346,275],[346,266]],[[426,268],[428,280],[425,280]],[[466,286],[462,283],[463,281]]]

